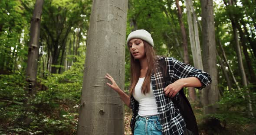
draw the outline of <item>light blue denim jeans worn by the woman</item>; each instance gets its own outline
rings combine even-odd
[[[134,135],[162,135],[159,116],[136,116]]]

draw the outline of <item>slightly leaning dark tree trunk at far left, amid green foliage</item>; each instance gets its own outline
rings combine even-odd
[[[30,99],[36,94],[36,72],[38,66],[38,56],[39,56],[39,37],[40,37],[40,21],[42,16],[43,0],[36,0],[33,18],[31,20],[30,26],[30,42],[28,49],[28,60],[26,68],[26,94],[27,100],[25,101],[25,106],[28,112],[32,112],[33,109],[29,105]],[[26,124],[31,122],[30,118],[26,118]]]

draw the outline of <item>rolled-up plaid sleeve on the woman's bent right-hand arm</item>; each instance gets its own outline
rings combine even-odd
[[[196,87],[197,89],[201,90],[204,87],[211,84],[211,77],[210,74],[201,71],[199,69],[194,68],[193,66],[189,64],[185,64],[181,61],[178,61],[177,59],[173,57],[167,57],[166,58],[167,67],[169,70],[169,75],[174,80],[178,80],[181,78],[187,78],[187,77],[197,77],[202,86]],[[173,80],[173,82],[174,82]]]

